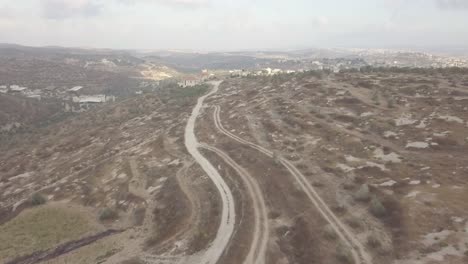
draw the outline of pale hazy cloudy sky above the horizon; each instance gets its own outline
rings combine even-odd
[[[468,47],[468,0],[0,0],[0,43],[199,51]]]

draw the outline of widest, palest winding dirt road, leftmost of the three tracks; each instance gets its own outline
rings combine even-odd
[[[198,151],[199,143],[195,137],[195,121],[203,106],[203,101],[208,96],[216,93],[220,83],[221,82],[212,82],[211,84],[213,84],[213,89],[206,95],[198,98],[197,105],[193,108],[192,114],[188,119],[187,126],[185,127],[185,147],[195,161],[200,164],[208,177],[210,177],[211,181],[213,181],[213,184],[216,186],[216,189],[218,189],[221,196],[223,207],[221,223],[218,227],[216,237],[208,249],[203,253],[201,259],[197,261],[197,263],[200,264],[215,264],[218,262],[231,239],[234,231],[234,224],[236,222],[236,212],[232,192],[215,167]]]

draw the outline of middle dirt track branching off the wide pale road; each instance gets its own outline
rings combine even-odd
[[[265,264],[265,255],[269,238],[268,213],[263,198],[262,191],[254,178],[239,164],[237,164],[228,154],[220,149],[203,144],[201,146],[220,156],[229,166],[231,166],[247,187],[253,209],[254,209],[254,233],[249,253],[244,260],[244,264]]]

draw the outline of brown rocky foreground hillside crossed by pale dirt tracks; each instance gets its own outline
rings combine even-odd
[[[223,78],[1,142],[1,263],[468,261],[466,70]]]

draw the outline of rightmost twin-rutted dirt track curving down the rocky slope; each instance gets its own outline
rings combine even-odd
[[[256,145],[252,142],[244,140],[228,130],[226,130],[220,118],[220,107],[215,106],[215,111],[213,113],[213,119],[215,122],[216,128],[226,136],[232,138],[233,140],[248,145],[261,153],[267,155],[270,158],[274,157],[272,151],[265,149],[262,146]],[[297,181],[302,190],[306,193],[309,200],[314,204],[318,209],[319,213],[324,217],[324,219],[330,224],[330,226],[335,230],[339,238],[349,247],[353,255],[355,263],[359,264],[372,264],[372,258],[365,250],[362,243],[349,231],[349,229],[340,221],[340,219],[330,210],[328,205],[323,201],[320,195],[315,191],[306,177],[288,160],[278,157],[280,163],[293,175],[294,179]]]

